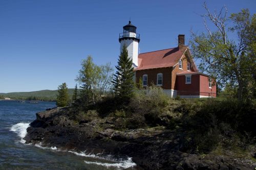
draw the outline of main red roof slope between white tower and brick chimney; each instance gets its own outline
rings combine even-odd
[[[180,50],[179,47],[141,53],[138,56],[138,67],[135,70],[172,67],[179,62],[183,54],[184,50]]]

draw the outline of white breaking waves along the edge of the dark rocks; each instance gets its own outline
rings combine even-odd
[[[26,134],[27,134],[27,128],[29,127],[29,123],[18,123],[18,124],[15,124],[13,125],[11,128],[10,128],[10,131],[13,131],[15,133],[18,134],[18,136],[21,138],[20,139],[20,142],[22,143],[25,143],[26,141],[23,139]],[[31,145],[32,143],[27,143],[27,145]],[[136,166],[136,163],[134,163],[132,161],[132,158],[131,157],[128,157],[127,159],[113,159],[113,156],[112,155],[107,155],[107,156],[100,156],[101,154],[87,154],[86,151],[84,152],[74,152],[74,151],[67,151],[67,150],[60,150],[58,149],[57,147],[42,147],[42,143],[39,142],[39,143],[36,143],[34,144],[35,147],[37,148],[40,148],[40,149],[49,149],[49,150],[53,150],[53,151],[57,151],[57,152],[69,152],[69,153],[72,153],[74,155],[77,155],[77,156],[82,156],[82,157],[89,157],[89,158],[95,158],[95,159],[101,159],[101,160],[105,160],[105,161],[110,161],[110,162],[113,162],[113,163],[106,163],[106,162],[101,162],[101,161],[84,161],[84,163],[87,163],[87,164],[96,164],[96,165],[102,165],[102,166],[105,166],[105,167],[117,167],[117,168],[129,168],[129,167],[134,167]]]

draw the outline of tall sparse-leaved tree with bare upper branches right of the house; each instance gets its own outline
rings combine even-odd
[[[237,40],[227,35],[227,9],[225,13],[221,10],[219,14],[212,14],[204,4],[208,18],[217,28],[211,32],[208,26],[207,33],[197,35],[192,32],[190,41],[192,53],[195,58],[200,59],[199,68],[213,78],[217,78],[218,85],[238,86],[238,99],[242,101],[252,97],[251,91],[255,90],[256,70],[256,15],[250,15],[248,9],[242,9],[239,13],[233,13],[229,19],[233,26],[228,31],[237,34]],[[254,96],[255,97],[255,96]]]

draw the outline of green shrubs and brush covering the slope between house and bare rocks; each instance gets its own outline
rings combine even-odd
[[[182,152],[209,153],[218,147],[247,152],[255,143],[256,102],[237,99],[172,99],[158,86],[135,91],[126,103],[108,97],[79,112],[79,123],[117,130],[161,127],[179,134]],[[77,107],[76,107],[77,108]],[[103,123],[105,122],[105,124]],[[255,144],[254,144],[255,145]]]

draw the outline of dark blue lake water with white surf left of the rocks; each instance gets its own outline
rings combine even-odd
[[[55,102],[0,101],[0,169],[124,169],[135,166],[130,159],[113,161],[86,153],[60,151],[25,144],[26,129],[35,113],[55,107]]]

